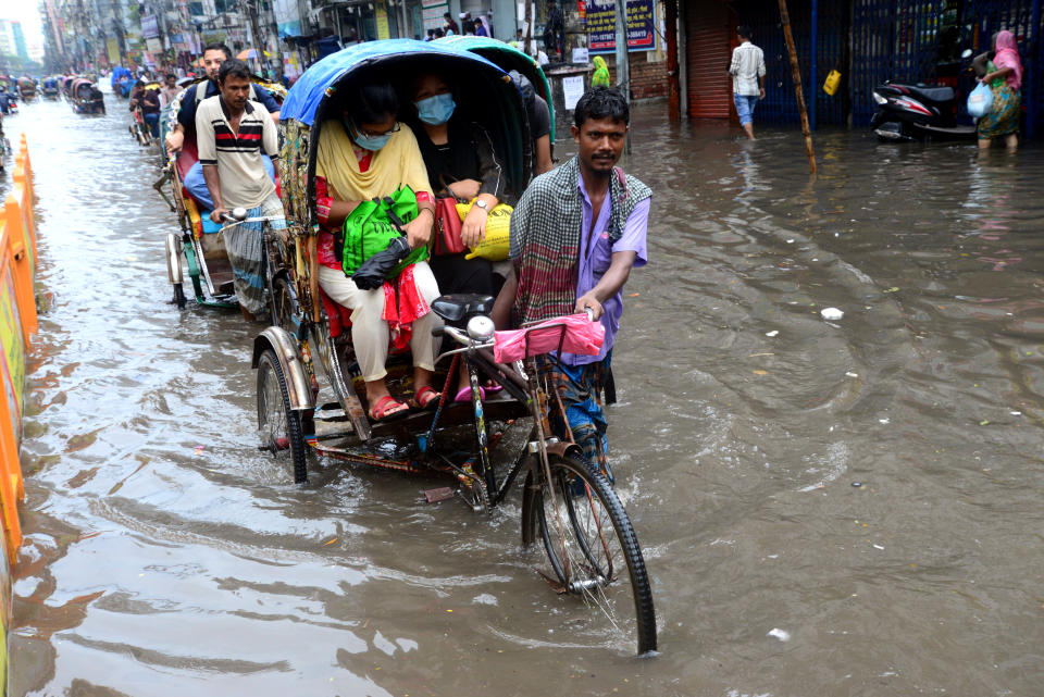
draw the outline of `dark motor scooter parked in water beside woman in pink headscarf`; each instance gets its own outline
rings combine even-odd
[[[968,59],[971,51],[961,58]],[[975,127],[957,123],[957,95],[946,85],[883,83],[873,89],[878,110],[870,129],[881,140],[974,140]]]

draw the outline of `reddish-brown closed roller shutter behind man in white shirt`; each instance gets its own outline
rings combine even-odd
[[[720,0],[701,0],[685,8],[688,115],[728,119],[732,102],[729,77],[729,12]]]

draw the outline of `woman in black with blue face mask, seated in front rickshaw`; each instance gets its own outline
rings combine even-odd
[[[460,113],[450,83],[443,75],[427,73],[417,77],[413,107],[418,123],[412,128],[435,195],[460,201],[475,199],[461,223],[460,234],[464,246],[474,247],[485,238],[489,211],[510,198],[493,139],[482,126]],[[439,289],[444,294],[477,293],[496,297],[501,284],[495,283],[489,261],[464,259],[465,253],[432,257],[430,263]],[[461,375],[458,395],[461,401],[470,399],[465,387],[467,375]]]

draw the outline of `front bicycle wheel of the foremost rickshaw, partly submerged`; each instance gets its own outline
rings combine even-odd
[[[533,500],[523,507],[523,542],[539,536],[550,567],[543,575],[597,609],[596,617],[607,618],[620,637],[635,637],[638,654],[655,651],[652,588],[623,505],[605,476],[583,460],[550,452],[548,459],[550,484],[531,486],[532,472],[526,481]]]

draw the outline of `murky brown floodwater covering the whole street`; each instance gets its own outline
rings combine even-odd
[[[610,437],[661,655],[571,633],[438,481],[257,448],[260,325],[167,304],[125,103],[37,103],[13,695],[1039,695],[1044,157],[747,144],[639,110],[656,191]],[[840,321],[820,311],[834,307]]]

